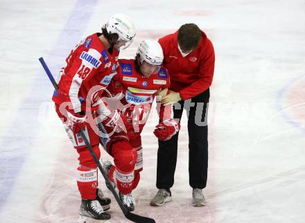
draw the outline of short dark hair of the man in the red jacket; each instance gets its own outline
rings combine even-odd
[[[178,44],[182,51],[192,50],[198,46],[200,39],[200,28],[196,24],[184,24],[178,30]]]

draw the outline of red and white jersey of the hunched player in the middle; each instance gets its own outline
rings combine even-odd
[[[119,60],[119,68],[116,71],[117,75],[114,80],[120,82],[123,88],[121,103],[128,105],[125,106],[126,109],[123,109],[123,114],[131,117],[134,123],[138,123],[139,132],[141,132],[147,121],[157,91],[166,89],[171,84],[168,72],[164,67],[161,67],[159,72],[153,73],[149,78],[145,78],[137,71],[134,60]],[[162,112],[159,112],[160,119],[164,116],[164,106],[161,107]],[[171,112],[171,105],[166,108],[166,111],[168,109]],[[171,114],[166,116],[171,116]]]

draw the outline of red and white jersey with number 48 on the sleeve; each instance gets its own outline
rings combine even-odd
[[[66,59],[66,66],[60,71],[58,92],[52,100],[60,105],[71,102],[71,109],[77,113],[98,104],[103,90],[116,75],[119,51],[112,54],[99,39],[101,33],[94,33],[83,39]]]

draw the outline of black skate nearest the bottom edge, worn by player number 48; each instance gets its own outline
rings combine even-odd
[[[87,222],[86,217],[91,217],[96,220],[108,220],[111,215],[103,210],[103,207],[98,202],[98,200],[92,199],[82,199],[82,204],[80,205],[80,218],[78,223]]]

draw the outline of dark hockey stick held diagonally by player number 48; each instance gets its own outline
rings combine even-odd
[[[42,64],[42,67],[44,68],[44,71],[46,71],[46,75],[48,75],[49,79],[51,80],[53,87],[55,88],[55,90],[58,90],[58,84],[55,82],[53,75],[51,73],[51,71],[49,70],[48,66],[46,66],[46,63],[44,62],[44,58],[40,57],[39,58],[40,63]],[[125,217],[132,221],[132,222],[136,222],[136,223],[155,223],[155,220],[153,220],[153,218],[150,217],[143,217],[141,215],[136,215],[134,213],[131,213],[130,211],[128,211],[125,206],[123,206],[123,203],[121,202],[121,199],[119,198],[119,195],[116,193],[116,190],[114,189],[114,187],[112,186],[112,184],[110,183],[109,178],[107,177],[107,174],[105,172],[105,170],[103,169],[100,161],[98,161],[98,158],[96,157],[96,154],[94,153],[94,151],[92,150],[92,147],[87,139],[87,136],[85,136],[85,133],[83,130],[80,130],[80,135],[82,136],[82,139],[84,139],[85,144],[87,145],[87,148],[90,152],[90,154],[92,155],[92,158],[94,159],[94,161],[96,162],[98,169],[101,171],[105,182],[106,182],[106,186],[108,188],[110,188],[112,194],[114,195],[114,198],[116,199],[116,202],[119,204],[121,211],[123,212],[123,214],[125,215]]]

